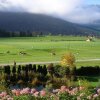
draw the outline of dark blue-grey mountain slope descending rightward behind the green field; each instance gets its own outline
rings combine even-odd
[[[86,25],[31,13],[0,12],[0,29],[12,32],[52,33],[53,35],[87,35],[92,33],[98,35],[98,30]]]

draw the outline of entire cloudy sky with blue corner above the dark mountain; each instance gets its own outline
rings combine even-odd
[[[86,24],[100,20],[100,0],[0,0],[0,11],[46,14]]]

